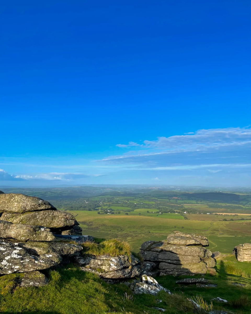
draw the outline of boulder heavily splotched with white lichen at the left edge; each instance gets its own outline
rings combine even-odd
[[[0,242],[0,274],[23,273],[50,268],[61,263],[56,253],[32,255],[18,243]]]

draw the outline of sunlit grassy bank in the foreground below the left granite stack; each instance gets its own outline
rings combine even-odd
[[[36,288],[16,287],[18,275],[0,277],[0,313],[11,314],[159,314],[152,307],[163,307],[167,314],[192,314],[183,295],[165,292],[158,296],[133,295],[124,284],[110,285],[74,265],[47,273],[50,282]],[[157,299],[163,300],[161,305]]]

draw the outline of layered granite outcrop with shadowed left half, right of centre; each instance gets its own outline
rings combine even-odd
[[[147,275],[205,274],[215,266],[204,236],[182,232],[170,234],[164,241],[147,241],[141,246],[143,273]]]

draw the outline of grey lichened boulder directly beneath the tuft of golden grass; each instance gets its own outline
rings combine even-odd
[[[104,279],[134,278],[141,273],[140,261],[133,255],[76,256],[75,262],[83,271],[96,273]]]

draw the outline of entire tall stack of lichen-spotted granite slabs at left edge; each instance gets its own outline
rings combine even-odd
[[[21,286],[46,284],[40,270],[73,260],[83,250],[56,235],[78,225],[74,217],[40,198],[0,193],[0,216],[0,275],[20,273]]]

